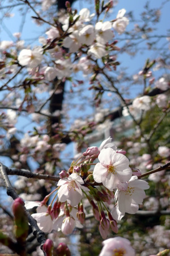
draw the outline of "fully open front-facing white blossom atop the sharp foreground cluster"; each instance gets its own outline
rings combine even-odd
[[[112,191],[117,187],[118,181],[126,182],[131,177],[129,160],[125,155],[119,154],[112,148],[103,148],[98,156],[100,163],[94,168],[94,180]]]

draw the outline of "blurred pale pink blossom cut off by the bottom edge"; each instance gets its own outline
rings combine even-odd
[[[103,241],[103,249],[99,256],[135,256],[135,251],[130,245],[130,241],[123,237],[109,238]]]

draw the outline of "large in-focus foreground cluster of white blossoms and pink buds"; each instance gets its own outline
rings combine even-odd
[[[48,233],[53,229],[61,230],[67,235],[73,232],[75,226],[81,228],[87,214],[83,208],[83,197],[86,197],[96,220],[100,221],[101,237],[105,239],[110,228],[117,233],[117,221],[125,213],[137,212],[145,198],[144,190],[149,188],[145,180],[133,175],[125,154],[125,151],[117,149],[111,137],[103,141],[99,148],[87,148],[71,164],[68,172],[60,172],[61,179],[52,192],[55,196],[50,205],[47,206],[46,202],[52,193],[42,202],[26,202],[27,208],[37,207],[37,213],[32,216],[40,229]],[[97,159],[99,162],[95,163]],[[90,166],[93,165],[95,167],[91,171]]]

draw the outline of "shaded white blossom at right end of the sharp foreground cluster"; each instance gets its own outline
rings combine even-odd
[[[125,212],[136,213],[139,208],[138,204],[142,204],[143,199],[145,199],[144,189],[148,188],[148,183],[145,180],[138,179],[137,176],[132,176],[126,183],[118,184],[115,199],[120,212],[123,214]]]

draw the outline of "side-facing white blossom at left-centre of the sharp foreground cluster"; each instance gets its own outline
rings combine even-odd
[[[80,203],[83,197],[83,192],[88,191],[87,187],[83,187],[84,181],[78,174],[71,174],[67,179],[61,179],[58,181],[58,199],[61,202],[67,201],[71,206],[76,206]]]

